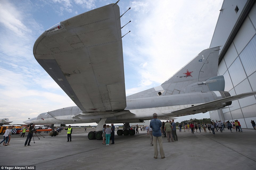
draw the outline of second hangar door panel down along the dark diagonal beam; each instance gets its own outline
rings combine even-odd
[[[255,29],[251,24],[250,19],[247,17],[233,41],[238,54],[241,53],[243,48],[251,40],[255,33]]]

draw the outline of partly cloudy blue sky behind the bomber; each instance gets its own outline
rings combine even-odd
[[[0,118],[20,124],[42,112],[75,106],[33,55],[36,39],[60,21],[115,3],[106,0],[0,1]],[[118,2],[126,95],[162,84],[206,49],[222,0]],[[192,118],[209,117],[196,114]],[[182,117],[177,121],[190,119]]]

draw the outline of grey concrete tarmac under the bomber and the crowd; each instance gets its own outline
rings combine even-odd
[[[9,146],[0,146],[0,166],[35,165],[36,170],[45,169],[102,169],[102,170],[165,170],[165,169],[256,169],[256,130],[243,129],[236,132],[225,129],[223,133],[181,132],[178,141],[168,142],[163,137],[165,157],[153,158],[154,149],[146,131],[139,130],[134,136],[117,136],[115,144],[106,146],[101,140],[89,140],[92,129],[73,128],[72,142],[67,142],[67,131],[45,138],[34,135],[30,145],[24,147],[24,138],[12,135]],[[116,129],[117,130],[117,129]],[[1,135],[0,140],[3,140]],[[110,140],[111,143],[111,140]],[[158,146],[159,148],[159,146]]]

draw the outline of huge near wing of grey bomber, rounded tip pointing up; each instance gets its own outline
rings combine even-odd
[[[38,63],[82,112],[126,107],[120,11],[113,5],[62,21],[34,44]]]

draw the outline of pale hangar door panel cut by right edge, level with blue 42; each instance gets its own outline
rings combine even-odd
[[[256,36],[239,55],[247,76],[256,71]]]

